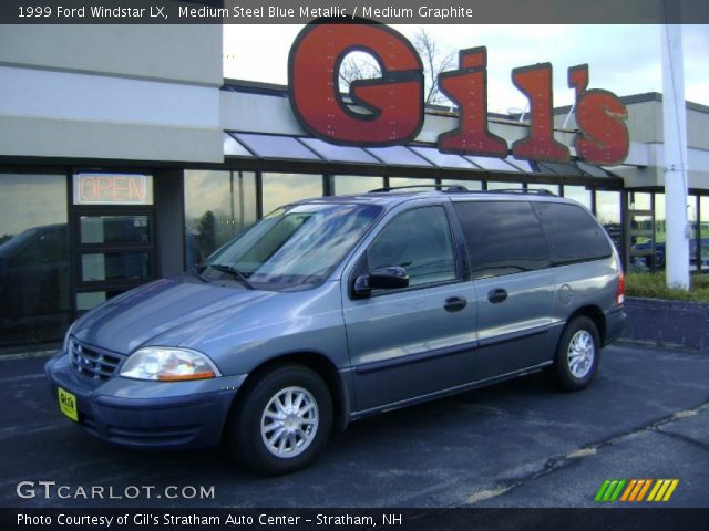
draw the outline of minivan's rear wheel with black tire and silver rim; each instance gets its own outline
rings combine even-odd
[[[549,375],[564,391],[580,391],[590,384],[600,363],[598,327],[588,317],[571,321],[559,339]]]

